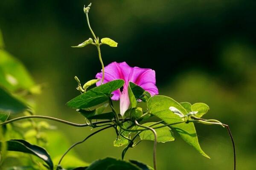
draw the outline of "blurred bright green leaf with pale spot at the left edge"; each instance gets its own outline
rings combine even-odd
[[[9,91],[29,90],[35,83],[23,64],[0,49],[0,85]]]

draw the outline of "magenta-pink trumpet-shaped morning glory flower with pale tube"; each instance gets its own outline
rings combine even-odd
[[[102,79],[102,72],[96,74],[97,79]],[[111,99],[120,99],[120,114],[123,116],[128,110],[130,100],[128,96],[129,82],[133,82],[148,91],[151,96],[158,94],[155,71],[150,68],[130,67],[126,62],[111,62],[105,67],[105,78],[103,84],[116,79],[123,79],[125,84],[123,88],[113,91]],[[101,85],[101,81],[96,83]]]

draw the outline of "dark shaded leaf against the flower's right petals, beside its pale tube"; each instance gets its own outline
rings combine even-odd
[[[133,82],[129,82],[129,86],[131,87],[131,91],[133,92],[136,100],[140,99],[143,102],[146,102],[150,98],[150,93],[148,91],[145,91],[140,86],[136,85]]]

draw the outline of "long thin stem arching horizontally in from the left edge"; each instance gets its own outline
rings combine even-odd
[[[22,120],[22,119],[35,119],[35,118],[37,118],[37,119],[49,119],[49,120],[53,120],[53,121],[56,121],[56,122],[61,122],[61,123],[67,124],[67,125],[75,126],[75,127],[90,126],[87,123],[85,123],[85,124],[78,124],[78,123],[73,123],[73,122],[68,122],[66,120],[58,119],[58,118],[55,118],[55,117],[39,116],[39,115],[17,117],[15,119],[11,119],[11,120],[8,120],[6,122],[0,123],[0,126],[1,125],[6,125],[8,123],[15,122],[15,121],[18,121],[18,120]],[[102,124],[102,123],[110,123],[110,122],[112,122],[112,121],[111,120],[106,120],[106,121],[100,121],[100,122],[93,122],[92,125],[97,125],[97,124]]]

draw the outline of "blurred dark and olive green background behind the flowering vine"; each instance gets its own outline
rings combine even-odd
[[[79,94],[81,82],[100,71],[96,48],[70,48],[92,37],[83,5],[92,2],[91,26],[117,48],[102,46],[105,65],[126,61],[156,71],[160,94],[178,102],[205,102],[206,119],[230,125],[236,142],[238,170],[255,169],[256,160],[256,1],[250,0],[1,0],[0,28],[6,50],[28,68],[43,93],[37,114],[84,122],[65,103]],[[118,106],[118,103],[115,103]],[[70,144],[92,131],[58,126]],[[218,126],[196,125],[204,158],[176,134],[175,142],[158,144],[160,170],[231,170],[233,150],[228,133]],[[120,157],[113,129],[75,148],[84,161]],[[52,137],[54,140],[54,137]],[[49,141],[50,143],[50,141]],[[153,142],[142,142],[126,159],[152,166]],[[65,150],[66,148],[61,148]]]

